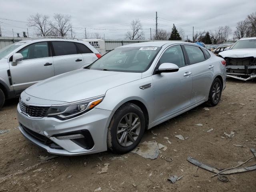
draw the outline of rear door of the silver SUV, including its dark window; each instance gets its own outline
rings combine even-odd
[[[52,41],[52,48],[55,75],[80,69],[84,66],[84,58],[74,42]]]

